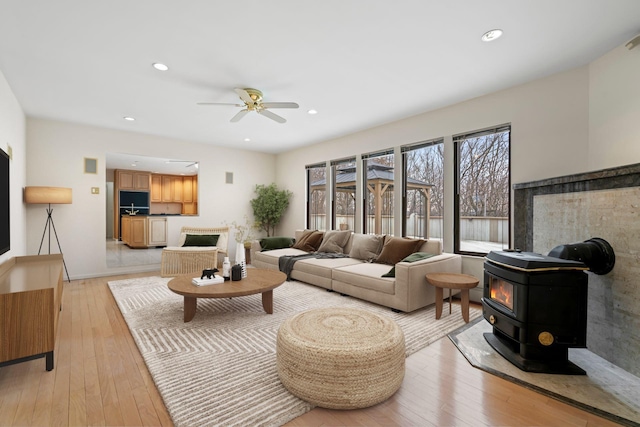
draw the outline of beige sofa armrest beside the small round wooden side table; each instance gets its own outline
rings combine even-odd
[[[396,295],[407,298],[408,311],[415,310],[419,301],[430,300],[434,294],[433,286],[425,277],[427,273],[461,272],[462,256],[457,254],[442,253],[421,261],[399,262],[396,264]]]

